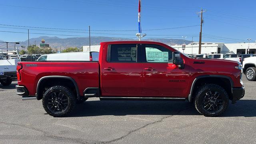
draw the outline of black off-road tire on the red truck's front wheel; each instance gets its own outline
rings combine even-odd
[[[213,98],[213,100],[209,98],[208,100],[208,97],[210,97],[209,92],[210,92],[210,95],[212,95],[212,92],[215,92],[214,96],[215,94],[218,94],[218,100],[216,100],[215,98]],[[215,103],[216,105],[212,104],[212,102],[214,103],[214,99],[215,99],[215,102],[219,102],[223,104],[221,106],[218,106],[218,104],[216,103]],[[224,90],[224,88],[216,84],[205,84],[204,86],[201,86],[196,92],[196,97],[194,98],[194,105],[196,110],[204,116],[219,116],[220,114],[226,111],[226,109],[228,108],[228,104],[229,104],[228,93],[226,92],[226,90]],[[205,105],[207,107],[205,107]],[[209,110],[205,109],[205,108],[208,108],[209,106],[212,109],[212,111],[211,109]],[[214,111],[214,108],[215,109],[219,108],[219,110]]]

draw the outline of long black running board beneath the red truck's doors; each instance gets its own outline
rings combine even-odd
[[[162,97],[114,97],[104,96],[100,97],[100,100],[158,100],[158,101],[185,101],[186,98],[162,98]]]

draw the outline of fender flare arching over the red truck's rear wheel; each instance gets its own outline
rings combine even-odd
[[[42,80],[49,79],[49,78],[64,78],[64,79],[71,80],[73,82],[75,88],[76,88],[77,98],[78,98],[78,100],[80,100],[80,93],[79,93],[79,89],[78,89],[77,83],[76,83],[76,81],[73,78],[71,78],[69,76],[44,76],[44,77],[40,78],[38,83],[37,83],[37,86],[36,86],[36,99],[37,100],[40,100],[40,98],[38,96],[38,92],[39,92],[39,88],[40,88],[40,83],[42,82]]]

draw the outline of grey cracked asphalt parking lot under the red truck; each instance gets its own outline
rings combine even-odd
[[[22,101],[15,85],[0,85],[1,144],[255,143],[256,82],[243,76],[244,98],[219,117],[204,117],[188,102],[100,101],[78,104],[54,118],[42,101]]]

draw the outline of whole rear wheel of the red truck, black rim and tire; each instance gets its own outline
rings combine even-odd
[[[63,117],[76,106],[76,97],[69,88],[53,86],[44,93],[42,104],[49,115]]]

